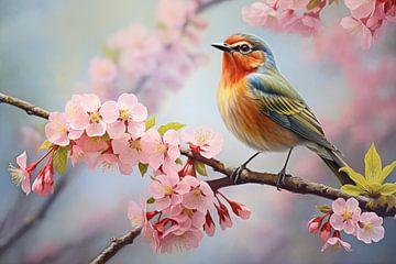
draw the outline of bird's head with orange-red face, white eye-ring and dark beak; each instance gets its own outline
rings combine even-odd
[[[257,70],[275,68],[268,45],[253,34],[234,34],[212,46],[223,52],[223,77],[237,80]]]

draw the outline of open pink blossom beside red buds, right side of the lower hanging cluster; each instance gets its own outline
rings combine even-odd
[[[196,177],[186,176],[183,178],[184,183],[189,186],[189,191],[183,196],[182,205],[188,209],[196,209],[206,213],[208,209],[213,207],[215,195],[210,186]]]

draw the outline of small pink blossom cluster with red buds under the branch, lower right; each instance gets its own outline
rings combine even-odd
[[[331,208],[322,206],[319,210],[324,215],[309,220],[307,228],[310,233],[319,231],[319,238],[323,243],[321,251],[329,248],[352,251],[351,244],[341,239],[341,231],[356,237],[366,244],[378,242],[384,238],[383,218],[375,212],[362,212],[354,198],[349,198],[346,201],[338,198],[332,202]]]

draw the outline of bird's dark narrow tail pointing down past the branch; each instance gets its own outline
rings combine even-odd
[[[348,176],[348,174],[345,174],[344,172],[340,172],[341,167],[348,166],[348,164],[340,157],[340,154],[327,147],[320,147],[319,150],[311,147],[309,148],[316,152],[319,157],[326,163],[326,165],[328,165],[331,172],[340,180],[341,185],[354,185],[353,180]]]

